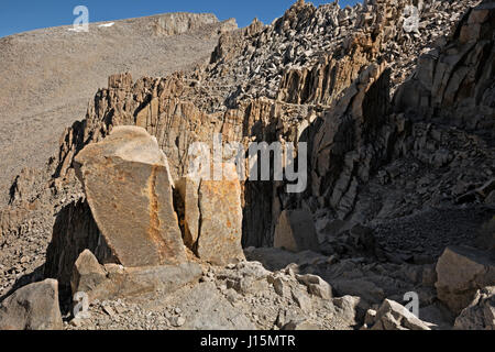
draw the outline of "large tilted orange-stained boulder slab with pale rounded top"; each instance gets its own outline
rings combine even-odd
[[[177,264],[186,253],[165,154],[144,129],[118,127],[75,158],[91,213],[127,267]]]

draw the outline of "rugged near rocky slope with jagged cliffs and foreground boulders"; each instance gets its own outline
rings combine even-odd
[[[494,29],[492,0],[298,1],[195,69],[110,76],[12,186],[0,326],[32,289],[67,329],[493,329]],[[215,133],[308,143],[308,187],[190,177]]]

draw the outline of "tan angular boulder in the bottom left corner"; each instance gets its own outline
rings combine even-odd
[[[46,279],[18,289],[0,307],[0,330],[61,330],[58,284]]]

